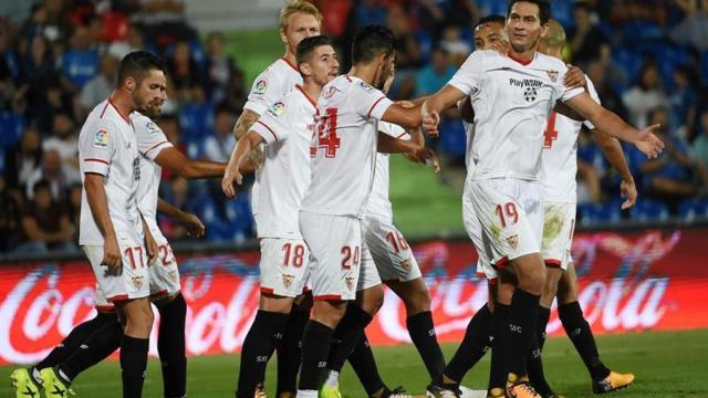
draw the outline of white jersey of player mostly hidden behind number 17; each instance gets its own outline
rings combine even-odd
[[[163,149],[171,147],[173,144],[167,140],[163,129],[149,117],[133,112],[131,121],[135,127],[137,148],[142,155],[137,206],[150,229],[153,238],[165,240],[157,226],[157,193],[163,168],[155,163],[155,158]]]

